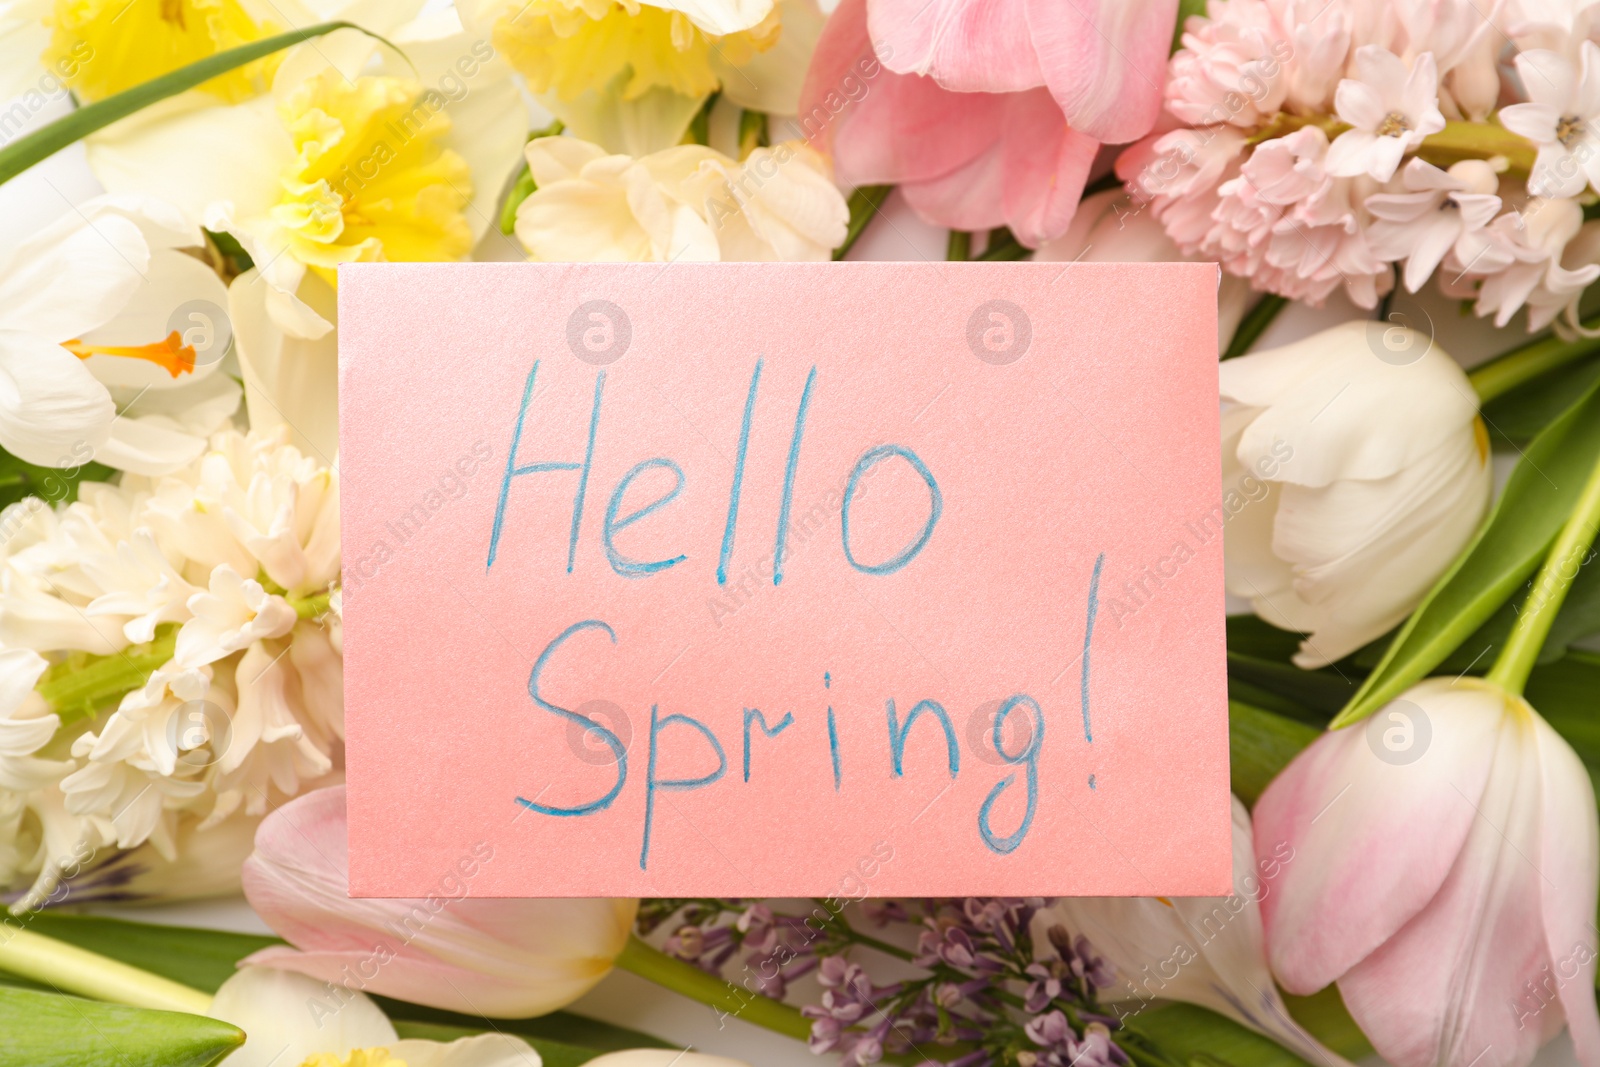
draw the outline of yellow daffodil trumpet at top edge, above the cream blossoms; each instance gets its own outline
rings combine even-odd
[[[778,8],[739,34],[712,37],[682,11],[638,0],[531,0],[494,26],[494,46],[528,78],[534,93],[573,99],[629,75],[622,99],[653,88],[706,96],[720,82],[712,54],[741,66],[778,42]]]

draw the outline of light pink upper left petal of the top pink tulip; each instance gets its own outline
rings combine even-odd
[[[1045,83],[1018,0],[870,0],[883,66],[957,93],[1014,93]]]

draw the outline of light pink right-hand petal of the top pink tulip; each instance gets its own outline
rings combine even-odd
[[[1026,0],[1045,85],[1074,130],[1106,144],[1155,125],[1178,0]]]

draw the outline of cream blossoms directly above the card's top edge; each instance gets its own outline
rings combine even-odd
[[[544,262],[826,261],[850,208],[805,144],[744,163],[685,144],[632,158],[576,138],[528,142],[538,186],[517,238]]]

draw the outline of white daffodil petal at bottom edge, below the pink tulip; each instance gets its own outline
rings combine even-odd
[[[245,1032],[245,1046],[229,1054],[229,1067],[283,1067],[318,1053],[346,1057],[358,1048],[389,1048],[395,1029],[365,993],[328,985],[304,974],[245,966],[216,990],[213,1019]]]

